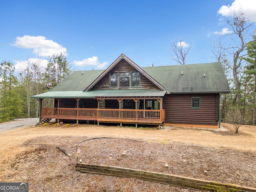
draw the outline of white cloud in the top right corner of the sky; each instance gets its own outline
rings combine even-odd
[[[234,16],[234,13],[244,13],[246,18],[256,21],[256,0],[235,0],[232,5],[223,5],[218,14],[223,16]]]

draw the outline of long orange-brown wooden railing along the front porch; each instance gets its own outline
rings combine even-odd
[[[41,118],[162,123],[165,110],[42,108]]]

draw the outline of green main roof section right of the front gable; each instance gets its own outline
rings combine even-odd
[[[220,62],[142,67],[142,69],[173,94],[230,93]]]

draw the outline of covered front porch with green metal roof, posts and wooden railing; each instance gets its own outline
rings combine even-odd
[[[161,125],[165,120],[161,90],[94,90],[90,92],[46,92],[33,98],[40,101],[40,120],[94,120],[126,124]],[[42,107],[44,98],[53,98],[54,107]]]

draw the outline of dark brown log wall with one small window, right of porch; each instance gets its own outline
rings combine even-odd
[[[192,97],[200,97],[200,108],[191,107]],[[165,95],[163,108],[168,124],[218,124],[218,94]]]

